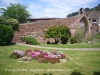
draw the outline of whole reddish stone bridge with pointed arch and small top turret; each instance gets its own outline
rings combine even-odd
[[[35,18],[29,19],[28,23],[20,24],[21,31],[15,32],[14,42],[19,42],[22,36],[33,36],[39,42],[46,43],[47,39],[44,38],[44,32],[48,30],[50,26],[65,25],[70,29],[71,37],[74,37],[77,26],[84,26],[84,36],[91,33],[98,32],[98,23],[95,19],[87,16],[83,8],[79,10],[77,16],[69,18]],[[91,21],[92,19],[92,21]],[[100,21],[100,19],[98,19]]]

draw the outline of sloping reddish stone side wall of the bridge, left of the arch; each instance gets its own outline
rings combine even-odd
[[[71,36],[74,37],[77,23],[84,18],[84,15],[78,15],[70,18],[54,19],[48,21],[38,21],[31,23],[20,24],[21,31],[15,32],[13,42],[20,42],[22,36],[33,36],[39,42],[46,43],[48,39],[44,38],[44,32],[54,25],[65,25],[70,29]],[[87,19],[86,19],[87,20]],[[88,21],[87,21],[88,22]],[[88,24],[86,26],[90,28]]]

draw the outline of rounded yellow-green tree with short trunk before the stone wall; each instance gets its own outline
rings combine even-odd
[[[46,38],[53,38],[55,40],[55,44],[61,40],[61,38],[68,39],[70,38],[70,31],[69,28],[65,25],[60,26],[52,26],[45,33]]]

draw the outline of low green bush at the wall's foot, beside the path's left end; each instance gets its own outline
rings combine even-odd
[[[22,42],[26,42],[27,44],[31,44],[31,45],[38,45],[40,44],[35,38],[29,36],[29,37],[22,37],[21,38]]]

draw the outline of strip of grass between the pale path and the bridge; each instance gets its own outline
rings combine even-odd
[[[100,43],[89,44],[89,43],[75,43],[75,44],[41,44],[41,46],[47,47],[58,47],[58,48],[100,48]]]

